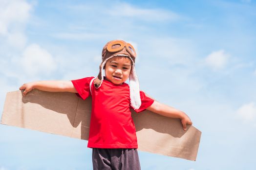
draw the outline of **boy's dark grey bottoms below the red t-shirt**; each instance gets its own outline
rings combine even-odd
[[[140,170],[137,149],[92,148],[93,170]]]

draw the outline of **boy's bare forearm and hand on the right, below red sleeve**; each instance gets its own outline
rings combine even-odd
[[[154,101],[153,104],[147,108],[147,110],[162,116],[181,119],[181,124],[184,130],[187,130],[187,124],[192,124],[191,119],[184,112],[160,102]]]

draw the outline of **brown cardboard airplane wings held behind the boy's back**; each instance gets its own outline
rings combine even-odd
[[[91,98],[85,101],[74,93],[32,90],[8,92],[1,124],[88,140]],[[149,153],[195,160],[201,132],[193,126],[184,131],[179,119],[148,110],[132,111],[138,149]]]

